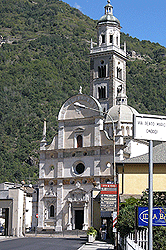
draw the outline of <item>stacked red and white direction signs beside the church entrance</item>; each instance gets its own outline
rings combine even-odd
[[[111,217],[118,209],[118,185],[101,184],[100,198],[101,217]]]

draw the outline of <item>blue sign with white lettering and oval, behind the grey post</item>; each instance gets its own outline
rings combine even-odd
[[[153,208],[153,226],[166,226],[166,208]],[[138,226],[148,226],[148,207],[138,207]]]

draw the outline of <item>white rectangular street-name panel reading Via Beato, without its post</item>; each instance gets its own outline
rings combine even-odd
[[[134,115],[134,139],[166,141],[166,116]]]

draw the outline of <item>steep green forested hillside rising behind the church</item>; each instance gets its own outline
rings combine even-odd
[[[0,182],[35,182],[44,118],[50,142],[62,103],[80,85],[89,94],[96,21],[59,0],[3,0],[0,35]],[[166,48],[125,34],[121,40],[141,55],[127,63],[128,104],[165,115]]]

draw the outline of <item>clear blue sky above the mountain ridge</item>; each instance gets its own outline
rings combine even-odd
[[[94,20],[104,15],[107,0],[63,0]],[[166,47],[166,0],[111,0],[121,31]]]

